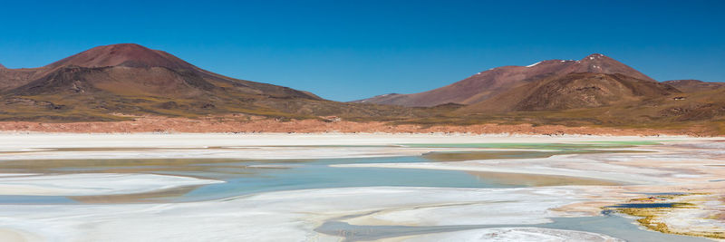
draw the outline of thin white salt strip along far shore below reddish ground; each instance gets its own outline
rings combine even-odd
[[[73,140],[73,142],[68,142]],[[389,133],[0,133],[0,152],[53,148],[152,148],[157,150],[282,146],[392,146],[456,143],[556,143],[633,141],[710,141],[721,137],[469,135]],[[415,149],[410,147],[410,149]],[[461,150],[462,148],[458,148]]]

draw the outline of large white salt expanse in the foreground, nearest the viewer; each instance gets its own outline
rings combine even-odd
[[[549,208],[584,196],[575,190],[373,187],[273,192],[179,204],[4,206],[0,224],[49,240],[334,241],[337,238],[315,233],[314,227],[326,219],[372,211],[378,213],[367,217],[383,224],[410,224],[423,216],[430,217],[423,223],[438,225],[546,222],[554,213]],[[489,213],[507,201],[513,201],[507,203],[507,213]],[[472,209],[471,204],[478,208]],[[419,206],[459,212],[419,213]],[[397,214],[389,217],[388,211]]]

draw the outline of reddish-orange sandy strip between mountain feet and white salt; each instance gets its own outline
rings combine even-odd
[[[583,134],[583,135],[718,135],[711,128],[691,125],[680,130],[619,129],[604,127],[566,127],[562,125],[531,124],[476,124],[469,126],[413,124],[391,125],[382,121],[320,121],[293,120],[279,121],[264,117],[220,116],[199,119],[168,118],[156,116],[135,117],[133,121],[94,121],[94,122],[33,122],[0,121],[0,131],[40,131],[75,133],[129,133],[129,132],[386,132],[386,133],[517,133],[517,134]]]

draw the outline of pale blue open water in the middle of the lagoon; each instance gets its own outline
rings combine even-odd
[[[265,191],[322,189],[372,186],[444,187],[444,188],[513,188],[523,185],[500,184],[481,179],[464,171],[435,169],[337,168],[331,164],[400,163],[429,161],[420,157],[314,160],[295,163],[290,169],[267,169],[264,172],[225,179],[227,183],[195,189],[180,200],[224,198]],[[274,165],[276,163],[265,163]]]

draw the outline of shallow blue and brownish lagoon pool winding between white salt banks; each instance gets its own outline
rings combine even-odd
[[[422,162],[420,157],[360,158],[330,160],[23,160],[27,167],[7,162],[0,165],[24,173],[154,173],[220,179],[225,183],[200,186],[179,192],[178,189],[150,194],[69,197],[0,196],[0,203],[69,203],[69,202],[181,202],[229,198],[258,192],[371,186],[515,188],[528,186],[525,179],[472,174],[458,170],[334,168],[331,164]],[[7,170],[7,169],[4,169]],[[534,175],[536,177],[536,175]],[[544,176],[542,176],[544,177]],[[577,184],[572,180],[570,184]]]

